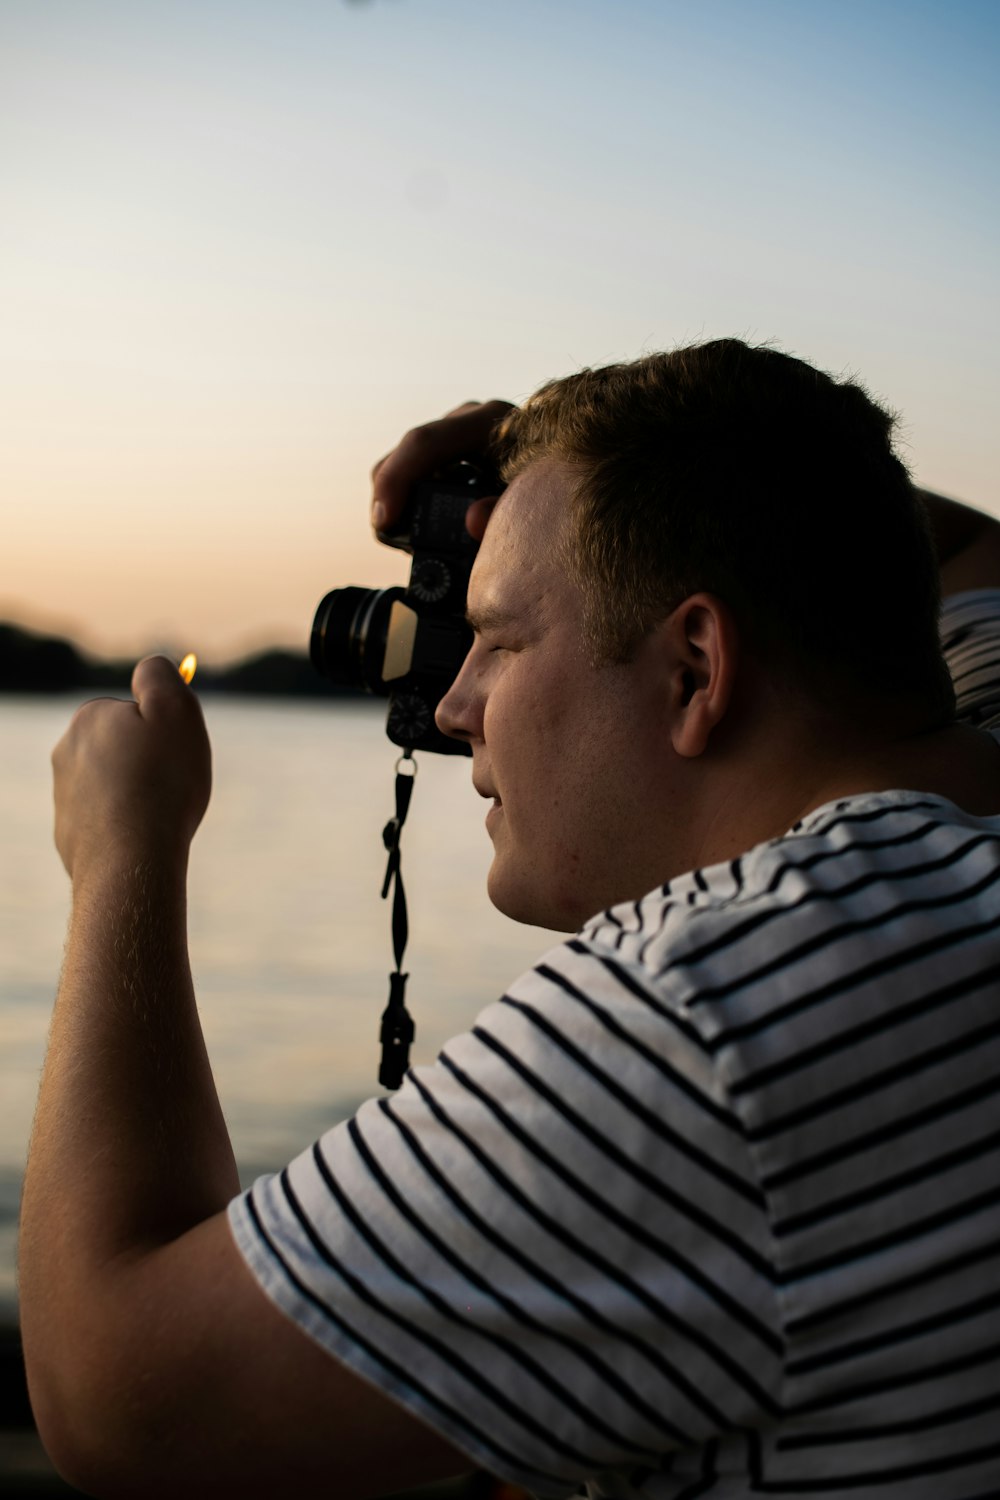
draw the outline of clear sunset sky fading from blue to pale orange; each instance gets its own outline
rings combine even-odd
[[[0,620],[304,648],[465,399],[774,340],[1000,514],[996,0],[0,0]]]

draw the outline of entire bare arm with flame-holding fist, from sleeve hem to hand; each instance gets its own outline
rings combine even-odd
[[[85,705],[54,756],[73,912],[21,1220],[42,1437],[94,1496],[349,1500],[460,1473],[270,1304],[232,1242],[184,936],[208,744],[171,663],[141,663],[133,690]]]

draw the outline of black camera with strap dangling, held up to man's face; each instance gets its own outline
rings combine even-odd
[[[496,477],[460,462],[414,490],[378,538],[412,555],[406,588],[334,588],[312,626],[312,664],[331,682],[388,696],[385,734],[405,750],[469,754],[433,716],[472,644],[465,622],[478,550],[465,525],[474,500],[498,495]]]

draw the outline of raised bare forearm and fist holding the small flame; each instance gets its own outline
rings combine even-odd
[[[139,702],[84,705],[52,758],[73,904],[25,1179],[28,1335],[46,1317],[39,1284],[82,1296],[90,1262],[162,1242],[238,1190],[187,963],[208,741],[168,662],[135,684]]]

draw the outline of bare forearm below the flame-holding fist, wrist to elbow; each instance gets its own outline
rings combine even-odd
[[[201,1222],[237,1186],[190,981],[183,870],[91,872],[73,892],[25,1174],[25,1340],[63,1336],[118,1257]]]

